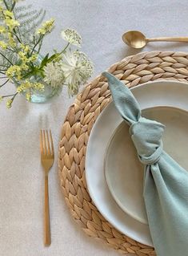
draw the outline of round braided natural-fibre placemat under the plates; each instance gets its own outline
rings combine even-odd
[[[127,87],[157,79],[187,82],[188,53],[143,52],[122,59],[108,71],[126,83]],[[58,169],[62,191],[70,213],[90,237],[106,242],[123,254],[155,255],[154,248],[128,238],[106,221],[98,212],[87,190],[85,157],[88,138],[95,120],[110,100],[106,79],[98,75],[86,85],[70,107],[62,125],[59,144]]]

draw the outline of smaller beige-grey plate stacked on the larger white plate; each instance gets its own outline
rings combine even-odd
[[[188,112],[179,108],[154,107],[143,110],[142,116],[165,124],[162,135],[164,150],[188,169]],[[129,125],[124,121],[116,128],[107,146],[104,170],[110,193],[117,204],[131,217],[147,224],[142,197],[144,167],[130,138]]]

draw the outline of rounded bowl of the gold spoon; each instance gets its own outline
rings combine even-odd
[[[146,36],[140,31],[131,30],[122,35],[122,40],[128,46],[135,49],[140,49],[146,46],[147,40]]]

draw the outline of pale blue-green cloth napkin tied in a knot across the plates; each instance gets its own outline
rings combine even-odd
[[[108,79],[118,112],[130,125],[130,136],[144,165],[143,197],[155,251],[158,256],[186,256],[188,173],[162,149],[164,125],[142,117],[128,87],[108,72],[102,75]]]

